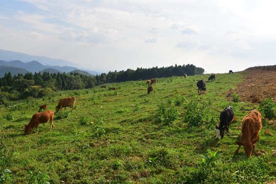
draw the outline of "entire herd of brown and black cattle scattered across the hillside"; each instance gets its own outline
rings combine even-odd
[[[232,71],[229,71],[229,74],[233,73]],[[185,74],[184,77],[186,78],[187,75]],[[208,80],[215,80],[216,75],[213,74],[209,77]],[[148,95],[150,93],[153,94],[153,86],[152,84],[157,83],[157,79],[151,79],[147,80],[146,84],[150,84],[148,86]],[[197,82],[198,87],[198,93],[199,90],[206,90],[205,87],[206,83],[203,79],[199,80]],[[102,86],[101,86],[102,87]],[[111,90],[116,90],[114,87],[110,87]],[[154,91],[155,93],[155,91]],[[59,100],[58,105],[56,106],[56,113],[64,107],[64,110],[66,107],[72,106],[72,111],[75,108],[75,97],[69,97],[69,98],[63,98]],[[45,111],[40,112],[42,109]],[[52,110],[47,110],[47,105],[41,105],[39,107],[39,110],[37,113],[35,113],[28,125],[25,125],[25,131],[24,135],[28,134],[29,132],[32,132],[33,128],[37,128],[36,132],[38,132],[38,126],[41,123],[47,123],[50,121],[50,131],[53,128],[53,118],[54,118],[54,112]],[[216,125],[216,139],[223,139],[224,131],[226,130],[226,133],[229,132],[229,124],[234,119],[234,110],[231,106],[226,107],[224,110],[220,113],[220,123],[219,126]],[[261,114],[258,110],[252,110],[248,112],[248,114],[244,117],[242,120],[242,129],[241,129],[241,141],[236,141],[236,144],[238,145],[237,150],[234,154],[237,154],[239,152],[239,149],[241,146],[244,147],[245,155],[246,157],[251,157],[252,150],[255,149],[256,143],[259,140],[259,132],[262,128],[262,122],[261,122]]]

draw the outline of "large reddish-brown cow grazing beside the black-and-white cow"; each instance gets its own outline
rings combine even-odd
[[[243,146],[246,157],[251,157],[252,150],[255,149],[259,140],[259,132],[262,128],[262,117],[258,110],[252,110],[242,120],[241,141],[236,141],[239,145],[234,154],[237,154]]]

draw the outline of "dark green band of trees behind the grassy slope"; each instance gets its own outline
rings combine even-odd
[[[148,80],[151,78],[163,78],[172,76],[201,75],[204,69],[193,64],[176,65],[168,67],[137,68],[126,71],[114,71],[96,76],[86,76],[79,73],[26,73],[12,76],[6,73],[0,78],[0,103],[3,99],[19,100],[27,97],[39,98],[51,94],[57,90],[73,90],[94,88],[104,83],[124,82],[134,80]],[[2,100],[1,100],[2,99]]]

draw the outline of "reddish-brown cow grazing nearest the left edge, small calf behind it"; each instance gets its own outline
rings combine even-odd
[[[53,110],[48,110],[48,111],[44,111],[44,112],[36,112],[30,123],[28,125],[25,125],[25,131],[24,131],[24,135],[28,134],[30,131],[33,131],[33,128],[36,127],[36,133],[38,132],[38,125],[40,123],[47,123],[51,122],[50,125],[50,131],[52,130],[52,127],[54,127],[53,125],[53,118],[54,118],[54,112]]]

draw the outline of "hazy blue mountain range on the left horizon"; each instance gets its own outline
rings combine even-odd
[[[18,73],[21,73],[21,72],[22,74],[24,74],[24,70],[22,70],[23,68],[27,70],[27,72],[32,72],[33,74],[39,71],[43,73],[46,70],[47,72],[50,72],[50,73],[65,72],[70,74],[73,71],[78,71],[78,73],[80,73],[81,71],[82,74],[85,74],[86,72],[87,76],[89,74],[101,75],[101,73],[95,72],[95,71],[80,70],[79,68],[77,68],[77,64],[68,62],[66,60],[53,59],[53,58],[41,57],[41,56],[31,56],[28,54],[5,51],[0,49],[0,77],[3,77],[5,75],[5,73],[3,74],[2,71],[5,71],[7,69],[7,67],[3,67],[3,66],[10,66],[8,69],[16,73],[14,75],[17,75]],[[51,70],[49,68],[51,68]],[[20,72],[17,73],[16,70]],[[6,71],[6,73],[8,72]]]

